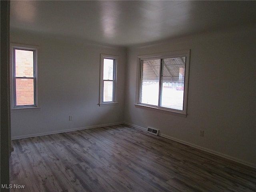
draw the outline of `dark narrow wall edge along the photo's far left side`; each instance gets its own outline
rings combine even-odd
[[[0,2],[0,184],[2,192],[9,192],[9,156],[11,148],[10,138],[10,102],[8,101],[10,93],[9,76],[9,30],[10,30],[10,1]]]

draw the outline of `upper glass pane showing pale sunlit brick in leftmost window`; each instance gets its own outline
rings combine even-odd
[[[34,77],[34,52],[15,49],[15,76]]]

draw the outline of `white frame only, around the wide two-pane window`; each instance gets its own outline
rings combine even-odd
[[[166,108],[161,106],[154,106],[150,104],[140,103],[141,100],[141,86],[142,86],[142,60],[155,60],[155,59],[164,59],[164,58],[177,58],[177,57],[186,57],[185,64],[185,79],[184,79],[184,98],[183,98],[183,110],[176,110],[172,108]],[[188,76],[189,76],[189,63],[190,63],[190,50],[180,50],[172,51],[158,54],[148,54],[148,55],[139,55],[138,56],[138,65],[137,65],[137,88],[136,88],[136,104],[138,108],[154,110],[157,112],[163,112],[167,114],[178,115],[182,117],[187,116],[187,101],[188,101]],[[161,89],[161,86],[159,86]],[[160,90],[159,90],[160,92]],[[160,98],[158,98],[160,100]]]

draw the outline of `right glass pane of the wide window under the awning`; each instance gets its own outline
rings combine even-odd
[[[161,106],[183,110],[186,57],[164,59]]]

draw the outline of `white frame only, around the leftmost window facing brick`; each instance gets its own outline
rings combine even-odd
[[[34,52],[34,104],[33,105],[16,105],[16,85],[15,85],[15,53],[14,50],[29,50]],[[11,85],[11,110],[40,110],[39,94],[38,94],[38,52],[39,46],[10,43],[10,85]]]

